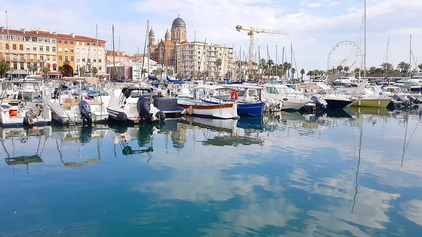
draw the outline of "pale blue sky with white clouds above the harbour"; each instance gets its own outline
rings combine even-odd
[[[380,65],[385,56],[388,36],[388,61],[397,65],[409,61],[409,34],[413,35],[413,54],[422,62],[422,0],[367,0],[367,66]],[[164,38],[180,14],[186,22],[188,41],[196,32],[198,41],[234,46],[248,54],[248,35],[237,32],[236,25],[283,30],[289,33],[257,34],[255,51],[281,61],[283,46],[290,61],[293,44],[295,68],[326,69],[328,53],[340,41],[357,41],[361,35],[364,0],[124,0],[98,1],[0,0],[8,11],[11,29],[43,27],[60,33],[98,36],[108,41],[115,25],[115,48],[129,54],[143,52],[146,22],[150,20],[156,39]],[[0,18],[6,26],[6,17]],[[267,46],[268,52],[267,53]],[[348,48],[344,48],[347,50]]]

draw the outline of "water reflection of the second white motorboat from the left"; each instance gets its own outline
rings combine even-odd
[[[95,163],[101,161],[101,145],[103,143],[104,137],[108,133],[108,126],[106,124],[95,124],[94,127],[84,126],[84,127],[54,127],[52,138],[56,139],[56,148],[60,157],[60,161],[66,167],[84,167],[89,163]],[[82,152],[84,146],[87,146],[92,141],[96,141],[96,158],[83,158]],[[77,155],[74,153],[75,143],[79,143],[79,150]],[[77,162],[65,161],[63,158],[63,147],[70,148],[70,153],[66,151],[67,154],[71,154],[71,157],[79,157]]]

